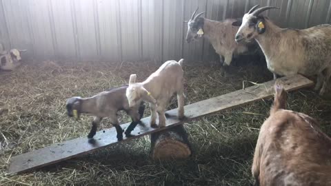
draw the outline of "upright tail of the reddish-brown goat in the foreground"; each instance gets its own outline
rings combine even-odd
[[[274,105],[272,105],[270,110],[270,115],[277,112],[280,109],[286,109],[286,103],[288,99],[288,95],[284,90],[283,85],[279,81],[274,83]]]

